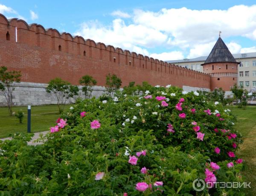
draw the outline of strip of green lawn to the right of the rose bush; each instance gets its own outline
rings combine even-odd
[[[243,135],[244,143],[240,145],[237,156],[244,160],[242,176],[252,187],[245,189],[246,195],[256,195],[256,107],[249,106],[246,110],[230,107],[236,115],[236,128]]]

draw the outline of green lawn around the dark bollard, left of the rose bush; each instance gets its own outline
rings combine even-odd
[[[66,105],[65,109],[70,108]],[[27,107],[13,107],[14,112],[24,112],[23,123],[20,124],[15,116],[9,116],[7,107],[0,107],[0,138],[8,137],[16,132],[27,132]],[[31,107],[31,132],[49,130],[55,125],[60,116],[57,105],[44,105]]]

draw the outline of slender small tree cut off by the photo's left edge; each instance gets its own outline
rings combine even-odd
[[[12,92],[15,90],[15,84],[20,83],[20,71],[7,72],[7,67],[1,66],[0,68],[0,90],[7,101],[7,107],[10,116],[12,116]]]

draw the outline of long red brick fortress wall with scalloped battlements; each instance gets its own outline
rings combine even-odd
[[[17,27],[17,43],[15,42]],[[10,40],[6,40],[9,31]],[[61,46],[61,51],[58,51]],[[84,56],[85,52],[85,56]],[[78,84],[83,75],[91,75],[99,86],[105,85],[108,73],[122,79],[122,86],[131,81],[151,85],[172,84],[182,87],[210,88],[207,74],[185,69],[135,52],[123,51],[104,43],[72,37],[38,24],[28,24],[23,20],[7,21],[0,14],[0,66],[20,70],[22,81],[48,83],[60,77]]]

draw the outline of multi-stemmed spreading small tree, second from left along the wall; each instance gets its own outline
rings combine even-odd
[[[63,112],[64,105],[69,98],[73,98],[75,95],[78,95],[79,89],[75,85],[71,85],[68,81],[64,81],[61,78],[55,78],[49,81],[46,88],[48,93],[52,92],[58,104],[59,112]],[[63,105],[61,107],[61,105]]]

